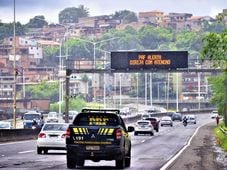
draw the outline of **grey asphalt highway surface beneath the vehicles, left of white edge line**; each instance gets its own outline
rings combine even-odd
[[[160,169],[174,156],[193,135],[199,126],[214,121],[210,114],[197,115],[197,124],[184,127],[174,122],[173,127],[160,127],[154,136],[139,135],[132,138],[131,167],[127,169]],[[65,151],[36,153],[36,141],[21,141],[0,144],[0,168],[3,169],[67,169]],[[85,161],[83,169],[115,169],[115,161]]]

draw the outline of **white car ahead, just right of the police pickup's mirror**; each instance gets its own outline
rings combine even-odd
[[[136,122],[134,135],[138,134],[150,134],[154,135],[154,127],[149,120],[138,120]]]

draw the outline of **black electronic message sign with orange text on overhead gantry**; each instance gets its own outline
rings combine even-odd
[[[112,70],[148,70],[188,67],[187,51],[117,51],[111,52]]]

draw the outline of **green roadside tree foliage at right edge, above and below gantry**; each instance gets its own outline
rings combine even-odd
[[[227,29],[221,33],[211,32],[203,39],[201,59],[209,59],[214,66],[223,68],[224,75],[210,79],[213,83],[213,103],[224,115],[224,124],[227,126]]]

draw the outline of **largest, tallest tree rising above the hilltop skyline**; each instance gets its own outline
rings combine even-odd
[[[89,9],[83,5],[79,5],[78,8],[66,8],[58,14],[60,24],[64,23],[78,23],[79,18],[88,17]]]

